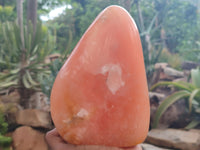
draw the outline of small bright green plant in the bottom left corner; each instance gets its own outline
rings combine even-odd
[[[8,124],[4,120],[3,113],[0,112],[0,148],[7,150],[12,142],[12,138],[4,136],[8,131]]]

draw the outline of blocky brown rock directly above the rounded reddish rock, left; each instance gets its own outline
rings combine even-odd
[[[16,122],[20,125],[41,127],[46,129],[52,128],[49,112],[37,109],[25,109],[17,112]]]

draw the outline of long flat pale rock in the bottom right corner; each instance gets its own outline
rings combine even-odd
[[[153,129],[149,132],[146,142],[174,149],[199,150],[200,134],[177,129]]]

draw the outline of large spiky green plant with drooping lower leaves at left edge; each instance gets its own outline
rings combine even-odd
[[[24,26],[24,44],[16,23],[2,25],[4,43],[0,45],[0,90],[9,87],[39,89],[39,78],[50,73],[45,57],[53,49],[53,37],[41,23],[33,33],[31,25]],[[25,91],[24,91],[25,92]]]

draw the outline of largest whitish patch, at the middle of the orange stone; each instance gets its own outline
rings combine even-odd
[[[122,69],[119,64],[107,64],[101,68],[101,74],[108,73],[106,85],[111,93],[114,95],[119,88],[125,85],[122,80]]]

